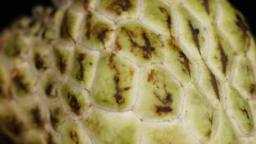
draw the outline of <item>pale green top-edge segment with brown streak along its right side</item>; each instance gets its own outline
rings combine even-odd
[[[156,29],[161,35],[169,35],[174,19],[168,5],[154,0],[145,0],[142,22]]]

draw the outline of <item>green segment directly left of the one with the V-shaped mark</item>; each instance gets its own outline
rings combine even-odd
[[[83,24],[82,45],[91,50],[109,47],[115,37],[115,23],[95,11],[88,11]]]

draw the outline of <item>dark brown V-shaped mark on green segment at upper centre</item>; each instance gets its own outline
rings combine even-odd
[[[133,41],[133,39],[132,39],[132,38],[134,38],[133,32],[127,31],[126,29],[125,29],[125,32],[130,37],[130,41],[132,43],[132,46],[133,47],[138,47],[138,48],[142,49],[142,51],[143,51],[143,58],[149,59],[150,57],[152,57],[152,51],[154,51],[155,48],[151,46],[150,41],[149,41],[146,33],[142,33],[142,37],[143,37],[143,39],[144,39],[144,41],[146,43],[146,46],[141,46],[141,45],[138,45],[135,41]]]

